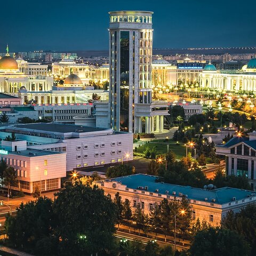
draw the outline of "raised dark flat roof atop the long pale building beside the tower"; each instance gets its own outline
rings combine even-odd
[[[75,124],[57,124],[57,123],[18,124],[18,125],[15,125],[15,127],[29,129],[29,130],[60,132],[60,133],[68,133],[68,132],[82,133],[82,132],[98,132],[98,131],[108,130],[103,128],[101,129],[101,128],[95,128],[95,127],[75,125]]]

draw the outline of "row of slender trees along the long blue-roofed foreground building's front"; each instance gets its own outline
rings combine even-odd
[[[174,232],[181,234],[183,238],[188,237],[188,231],[191,228],[191,209],[188,201],[185,197],[182,197],[181,201],[173,199],[167,201],[163,199],[160,204],[154,203],[151,207],[150,213],[145,214],[143,206],[137,203],[135,210],[132,211],[130,201],[125,199],[122,201],[119,193],[115,195],[114,203],[117,206],[117,224],[124,224],[131,228],[131,224],[135,229],[144,233],[148,231],[154,232],[157,237],[157,233],[165,235],[174,235]],[[174,215],[184,211],[185,214],[177,215],[177,229],[174,230]]]

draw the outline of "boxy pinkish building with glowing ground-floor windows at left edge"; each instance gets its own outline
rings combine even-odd
[[[17,172],[15,190],[33,193],[60,189],[60,179],[66,177],[66,153],[27,148],[27,141],[1,141],[1,160]]]

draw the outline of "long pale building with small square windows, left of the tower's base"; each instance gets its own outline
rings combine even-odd
[[[81,125],[19,124],[0,128],[0,138],[14,132],[28,148],[67,153],[67,171],[133,159],[133,135]]]

